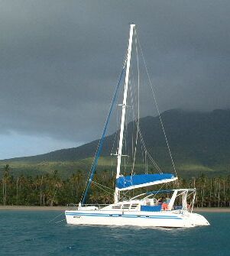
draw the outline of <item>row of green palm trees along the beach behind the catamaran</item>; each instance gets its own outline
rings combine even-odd
[[[3,206],[66,206],[79,203],[86,185],[86,173],[77,170],[67,179],[60,177],[57,170],[37,177],[11,175],[11,168],[5,165],[0,180],[0,204]],[[103,186],[99,186],[102,184]],[[113,202],[115,176],[108,170],[96,173],[87,198],[87,203]],[[164,189],[196,187],[195,207],[230,207],[230,175],[207,177],[204,174],[188,179],[179,178],[177,183],[167,183]],[[154,190],[162,188],[154,186]],[[150,188],[131,190],[125,199],[144,193]]]

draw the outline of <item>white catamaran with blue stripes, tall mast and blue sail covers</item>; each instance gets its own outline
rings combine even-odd
[[[134,36],[137,37],[136,28],[134,24],[131,24],[128,50],[121,72],[121,76],[123,76],[123,73],[125,76],[125,86],[123,102],[121,104],[121,126],[119,130],[120,134],[118,151],[115,154],[117,157],[117,167],[114,203],[110,204],[109,206],[102,206],[102,208],[99,206],[89,206],[85,204],[89,187],[93,182],[92,180],[96,171],[99,156],[102,152],[102,144],[105,140],[105,132],[109,123],[109,118],[112,113],[113,106],[115,105],[115,100],[117,99],[118,86],[121,83],[121,76],[118,80],[118,86],[115,89],[112,105],[109,109],[109,115],[107,116],[105,126],[102,131],[102,137],[97,147],[96,155],[86,185],[86,190],[84,191],[82,200],[78,207],[74,210],[66,210],[66,222],[71,225],[133,225],[141,227],[167,228],[190,228],[201,225],[209,225],[209,222],[204,216],[193,212],[196,189],[177,188],[171,190],[146,191],[145,193],[141,193],[129,199],[121,199],[121,193],[128,192],[128,190],[143,189],[144,187],[159,184],[164,185],[167,183],[176,183],[178,179],[177,173],[162,173],[161,171],[160,173],[144,174],[135,174],[134,172],[131,172],[130,175],[121,175],[121,157],[125,157],[125,155],[122,154],[122,148],[124,144],[125,112],[128,107],[127,96],[130,82],[131,50]],[[160,116],[160,112],[158,113]],[[161,119],[160,122],[164,131],[164,126]],[[137,131],[139,133],[139,127],[137,128]],[[167,140],[165,131],[164,135]],[[170,147],[168,147],[168,149],[170,153]],[[173,161],[171,153],[170,157]],[[187,203],[187,199],[190,199],[190,204]]]

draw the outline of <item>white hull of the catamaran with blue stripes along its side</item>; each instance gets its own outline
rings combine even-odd
[[[66,211],[66,222],[71,225],[133,225],[141,227],[190,228],[209,225],[209,222],[196,213],[172,211],[164,212],[121,212],[94,210]]]

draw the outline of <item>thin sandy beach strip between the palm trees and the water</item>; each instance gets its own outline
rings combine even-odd
[[[76,209],[70,206],[0,206],[0,211],[65,211]],[[230,212],[230,207],[194,208],[193,212]]]

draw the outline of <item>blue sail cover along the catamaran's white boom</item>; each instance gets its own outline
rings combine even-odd
[[[174,177],[172,173],[121,176],[116,180],[116,187],[119,190],[132,190],[138,187],[167,183],[173,180],[177,180],[177,177]]]

